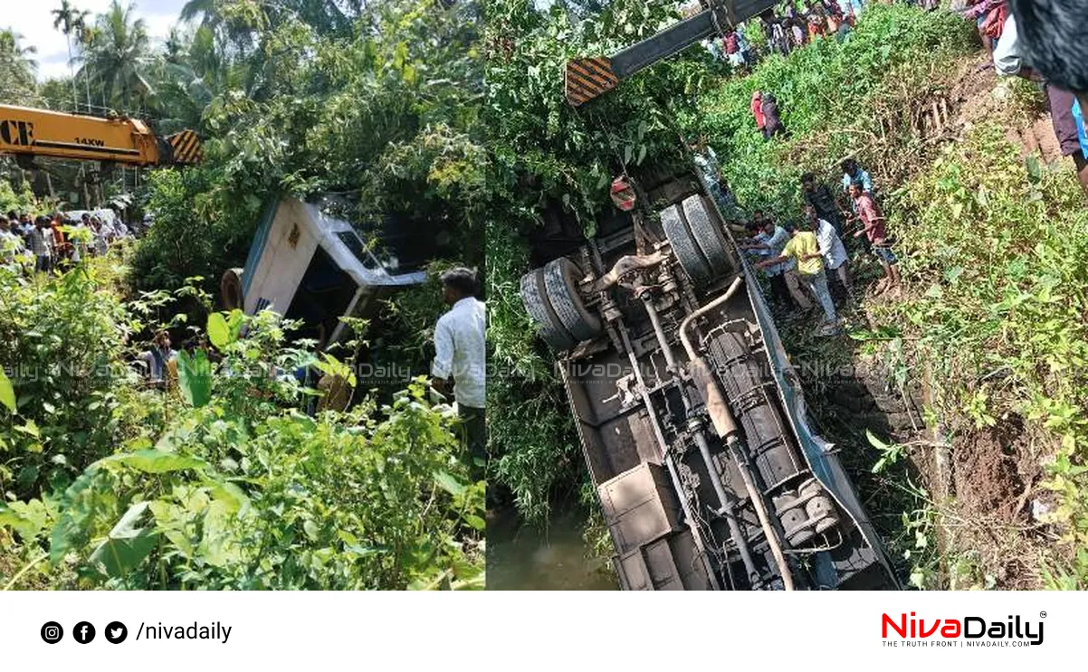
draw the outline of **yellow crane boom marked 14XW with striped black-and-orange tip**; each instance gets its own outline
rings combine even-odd
[[[128,165],[193,165],[201,160],[193,130],[157,136],[127,117],[102,119],[0,104],[0,153]]]

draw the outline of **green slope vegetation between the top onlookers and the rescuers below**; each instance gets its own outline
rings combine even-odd
[[[850,39],[767,57],[752,75],[703,96],[696,112],[682,114],[682,125],[707,137],[741,203],[796,217],[806,171],[838,175],[838,162],[857,155],[879,177],[901,177],[917,142],[910,134],[912,104],[938,90],[949,64],[974,49],[972,34],[948,12],[875,3]],[[750,109],[756,90],[778,99],[790,139],[763,139]],[[893,137],[885,137],[882,120],[897,122]]]

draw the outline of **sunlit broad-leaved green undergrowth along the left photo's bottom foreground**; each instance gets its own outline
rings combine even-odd
[[[129,444],[33,515],[0,521],[21,536],[40,527],[51,563],[84,587],[479,587],[483,484],[466,482],[448,414],[424,389],[376,422],[247,419],[219,397],[156,448]]]

